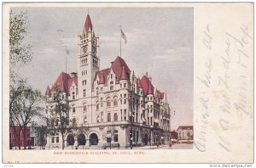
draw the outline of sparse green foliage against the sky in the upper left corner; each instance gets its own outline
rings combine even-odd
[[[29,34],[27,11],[15,13],[11,10],[9,16],[9,63],[13,69],[32,60],[32,46],[24,42]]]

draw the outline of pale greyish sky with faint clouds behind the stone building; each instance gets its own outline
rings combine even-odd
[[[32,61],[19,68],[33,88],[45,92],[65,71],[77,71],[78,36],[88,8],[14,8],[27,10]],[[99,36],[101,70],[119,55],[121,25],[127,37],[122,58],[136,76],[148,72],[154,87],[167,92],[171,129],[193,125],[193,8],[89,8]],[[61,31],[58,31],[61,30]],[[175,115],[174,115],[175,111]]]

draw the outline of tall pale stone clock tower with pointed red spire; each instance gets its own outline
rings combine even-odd
[[[98,56],[98,37],[93,31],[90,15],[87,14],[84,23],[84,30],[79,36],[79,56],[78,56],[78,87],[79,98],[90,98],[91,89],[96,75],[99,70],[100,59]]]

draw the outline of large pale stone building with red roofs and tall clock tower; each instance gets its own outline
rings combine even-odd
[[[160,92],[146,73],[135,76],[121,57],[100,70],[98,37],[87,14],[84,30],[79,36],[78,72],[62,72],[55,81],[67,100],[69,118],[75,120],[79,132],[70,132],[65,139],[74,139],[74,146],[102,148],[143,146],[170,140],[170,108],[166,92]],[[106,59],[106,58],[102,58]],[[50,100],[53,87],[46,89]],[[53,106],[46,105],[47,115]],[[48,137],[49,148],[61,147],[61,134]],[[66,147],[70,141],[66,141]]]

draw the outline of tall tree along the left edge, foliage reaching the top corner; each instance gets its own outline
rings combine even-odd
[[[29,34],[29,21],[27,20],[27,12],[21,11],[15,13],[13,10],[9,14],[9,64],[10,64],[10,93],[9,93],[9,129],[14,128],[15,137],[18,137],[20,148],[20,132],[17,132],[15,125],[15,114],[13,111],[17,98],[26,87],[26,80],[20,78],[15,73],[15,68],[22,64],[26,64],[32,60],[31,49],[32,46],[25,42]],[[10,137],[10,148],[11,137]]]

